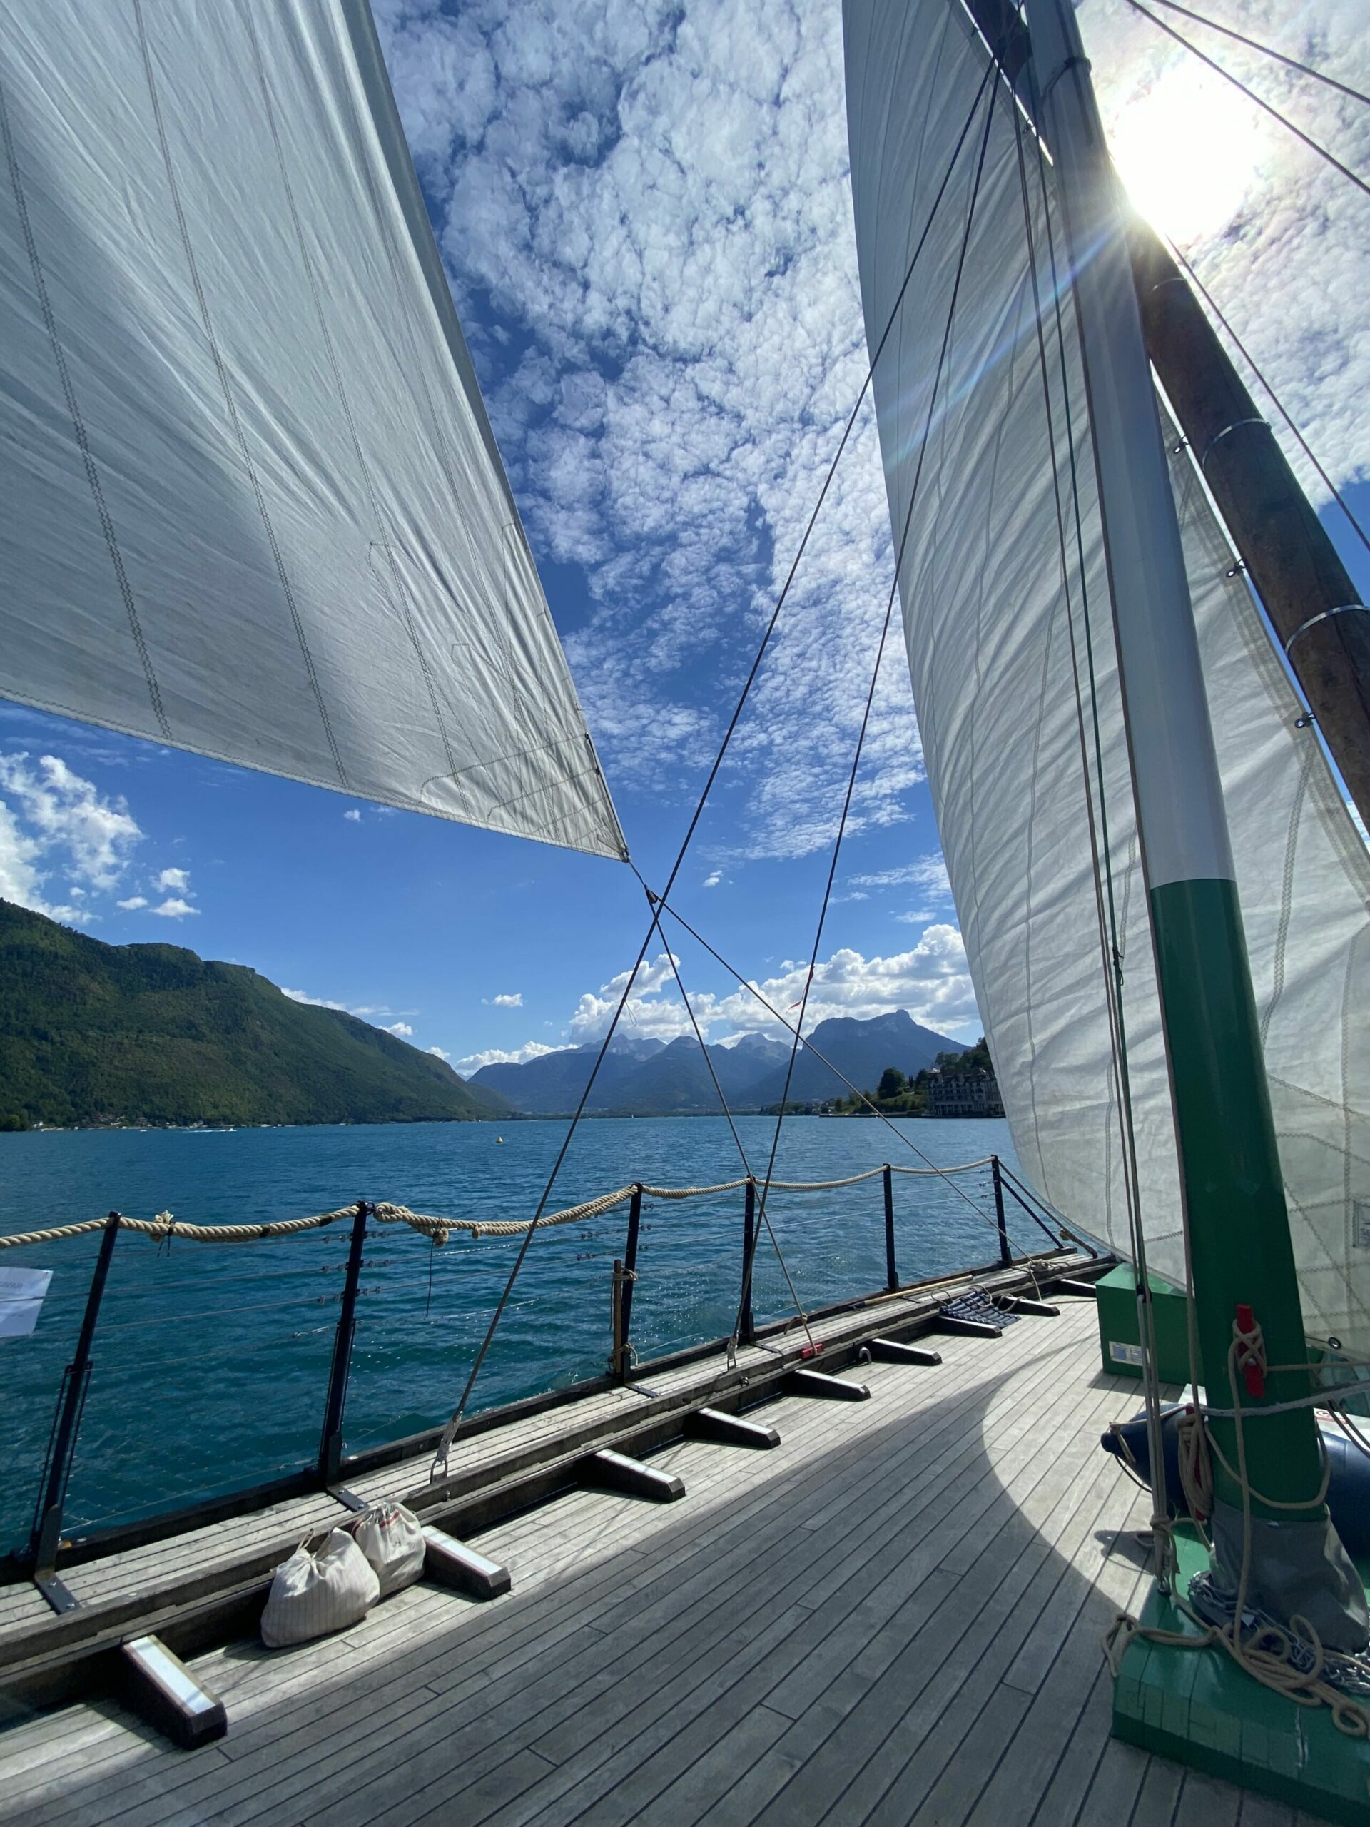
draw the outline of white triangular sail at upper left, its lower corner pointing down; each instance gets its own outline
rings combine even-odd
[[[0,692],[621,857],[365,0],[0,37]]]

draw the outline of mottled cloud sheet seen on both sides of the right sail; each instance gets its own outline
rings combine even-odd
[[[683,797],[866,369],[842,9],[524,0],[453,18],[431,0],[378,0],[376,13],[458,303],[480,300],[468,329],[533,543],[586,568],[590,616],[566,645],[610,778]],[[1319,0],[1293,24],[1280,0],[1248,0],[1242,20],[1365,88],[1361,0]],[[1187,53],[1123,0],[1083,0],[1081,29],[1120,155],[1143,175],[1171,161],[1184,201],[1202,181],[1200,274],[1333,475],[1365,473],[1365,199],[1220,79],[1182,69]],[[1370,166],[1370,113],[1207,42]],[[495,338],[508,327],[522,349],[511,373],[482,334],[491,311]],[[753,855],[831,839],[890,559],[868,418],[725,775],[747,787]],[[899,647],[895,630],[853,831],[901,820],[922,776]]]

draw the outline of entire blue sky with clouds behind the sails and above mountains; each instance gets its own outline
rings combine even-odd
[[[659,882],[864,375],[840,9],[376,13],[552,610]],[[1259,0],[1242,26],[1365,86],[1354,13],[1319,0],[1291,22]],[[1370,517],[1365,199],[1114,0],[1089,0],[1081,24],[1125,175]],[[1228,60],[1348,157],[1365,132],[1339,111],[1352,104]],[[678,890],[782,1007],[802,987],[888,579],[866,426]],[[0,893],[100,939],[254,965],[455,1061],[601,1032],[645,928],[619,864],[16,707],[0,707]],[[690,941],[678,950],[712,1038],[760,1025]],[[897,647],[818,957],[818,1018],[906,1007],[977,1032]],[[669,1038],[683,1014],[663,977],[634,1027]]]

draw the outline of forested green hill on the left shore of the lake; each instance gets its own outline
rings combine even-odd
[[[0,901],[0,1127],[497,1116],[429,1052],[245,965],[102,945]]]

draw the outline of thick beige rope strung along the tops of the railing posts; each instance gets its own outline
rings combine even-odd
[[[875,1180],[882,1173],[902,1173],[915,1178],[943,1178],[950,1173],[972,1173],[977,1167],[992,1166],[994,1156],[986,1155],[983,1160],[961,1162],[955,1167],[901,1167],[897,1164],[882,1164],[879,1167],[866,1167],[862,1173],[851,1173],[842,1180],[771,1180],[771,1191],[776,1193],[831,1193],[844,1186],[859,1186],[862,1180]],[[597,1199],[581,1200],[577,1206],[566,1206],[564,1211],[548,1211],[541,1219],[453,1219],[437,1217],[429,1211],[411,1211],[409,1206],[398,1206],[389,1200],[362,1200],[365,1209],[376,1219],[378,1224],[407,1224],[411,1230],[424,1237],[431,1237],[435,1244],[444,1244],[451,1231],[466,1231],[469,1237],[522,1237],[535,1224],[539,1231],[552,1230],[557,1224],[577,1224],[585,1219],[597,1219],[605,1211],[614,1211],[617,1206],[625,1206],[634,1191],[641,1186],[645,1199],[712,1199],[720,1193],[736,1193],[747,1186],[747,1177],[738,1180],[720,1180],[716,1186],[647,1186],[645,1182],[634,1182],[630,1186],[619,1186],[612,1193],[601,1193]],[[53,1244],[66,1237],[86,1237],[91,1231],[104,1231],[111,1224],[119,1224],[124,1231],[135,1231],[142,1237],[152,1237],[157,1242],[170,1241],[174,1237],[184,1239],[186,1242],[197,1244],[252,1244],[263,1242],[272,1237],[298,1237],[303,1231],[318,1231],[329,1224],[340,1224],[345,1219],[354,1219],[358,1211],[358,1202],[351,1206],[340,1206],[336,1211],[318,1211],[305,1219],[272,1219],[265,1224],[192,1224],[186,1219],[177,1219],[170,1211],[159,1211],[155,1219],[130,1219],[122,1213],[108,1213],[102,1219],[80,1219],[75,1224],[55,1224],[42,1231],[13,1231],[9,1235],[0,1235],[0,1250],[20,1250],[29,1244]]]

